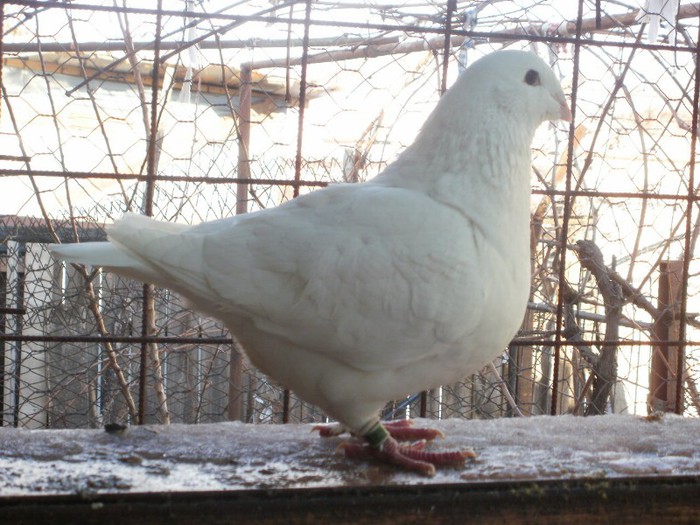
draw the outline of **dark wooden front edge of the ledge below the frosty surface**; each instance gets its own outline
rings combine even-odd
[[[136,467],[134,467],[136,468]],[[0,497],[0,523],[696,523],[699,477]]]

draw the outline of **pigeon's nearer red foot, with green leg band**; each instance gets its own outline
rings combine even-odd
[[[340,448],[349,458],[379,459],[429,477],[435,475],[435,467],[462,465],[467,459],[476,458],[471,451],[426,452],[425,441],[401,446],[389,433],[377,423],[365,434],[366,444],[343,443]]]

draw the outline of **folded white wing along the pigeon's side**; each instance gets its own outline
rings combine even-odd
[[[195,227],[127,216],[110,236],[232,327],[252,322],[348,366],[396,369],[479,326],[483,257],[458,215],[419,192],[339,185]]]

